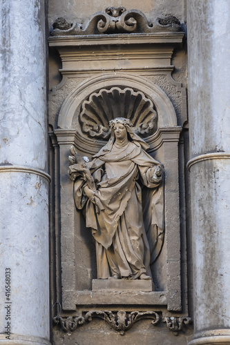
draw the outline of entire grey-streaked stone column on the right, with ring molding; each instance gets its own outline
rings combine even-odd
[[[230,344],[230,2],[189,0],[195,335]]]

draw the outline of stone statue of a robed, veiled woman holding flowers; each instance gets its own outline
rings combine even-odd
[[[75,204],[84,208],[95,238],[98,279],[151,279],[150,246],[157,235],[151,239],[144,228],[140,186],[153,188],[148,225],[162,229],[162,165],[145,152],[148,145],[130,120],[117,117],[110,127],[111,139],[93,161],[70,165]]]

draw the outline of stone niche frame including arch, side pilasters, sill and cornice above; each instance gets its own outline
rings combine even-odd
[[[168,74],[173,71],[173,50],[182,46],[183,32],[154,34],[103,34],[88,36],[50,37],[49,45],[59,51],[63,81],[57,86],[65,88],[68,77],[85,77],[85,81],[68,94],[58,115],[57,137],[60,161],[61,203],[61,299],[62,310],[81,313],[92,306],[100,310],[114,308],[160,308],[182,315],[181,255],[180,255],[180,195],[178,172],[178,142],[181,126],[173,103],[166,93],[144,77],[146,71]],[[153,100],[158,115],[158,129],[147,137],[150,154],[164,164],[165,174],[165,239],[166,288],[144,293],[142,291],[92,291],[78,290],[75,268],[79,265],[77,254],[81,246],[77,210],[73,199],[73,181],[68,178],[70,146],[79,153],[93,155],[105,141],[86,139],[74,121],[82,102],[102,88],[133,88]],[[51,96],[52,97],[52,96]],[[157,152],[161,150],[161,157]],[[171,207],[173,205],[173,208]],[[77,230],[76,230],[77,229]]]

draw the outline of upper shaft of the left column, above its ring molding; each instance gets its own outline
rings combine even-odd
[[[18,164],[46,170],[43,2],[4,1],[1,4],[1,16],[0,164]]]

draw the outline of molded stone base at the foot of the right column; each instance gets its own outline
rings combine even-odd
[[[230,329],[218,329],[215,331],[204,331],[195,335],[195,339],[189,345],[213,345],[230,344]]]

